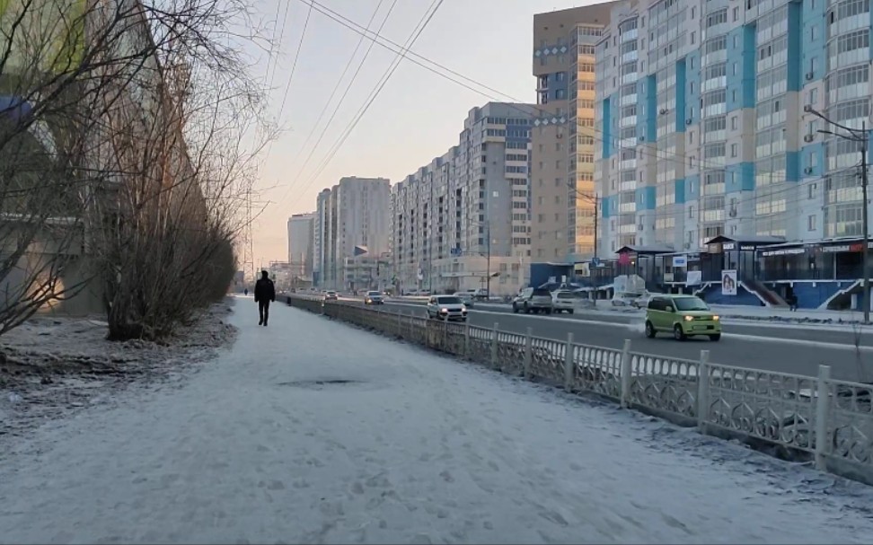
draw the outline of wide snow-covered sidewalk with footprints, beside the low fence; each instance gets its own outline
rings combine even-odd
[[[0,460],[0,541],[864,542],[873,489],[276,305]]]

